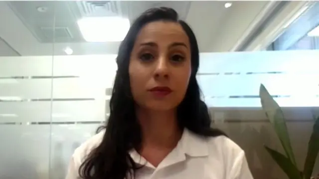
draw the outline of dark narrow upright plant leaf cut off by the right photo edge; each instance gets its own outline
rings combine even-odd
[[[319,118],[315,121],[313,133],[308,143],[308,152],[304,166],[305,179],[310,179],[319,153]]]

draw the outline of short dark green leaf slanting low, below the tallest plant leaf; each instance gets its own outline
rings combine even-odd
[[[297,167],[286,156],[267,146],[265,146],[265,148],[279,167],[287,174],[289,179],[302,179]]]

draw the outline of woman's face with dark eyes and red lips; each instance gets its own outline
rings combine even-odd
[[[156,21],[138,34],[129,66],[131,91],[142,108],[170,110],[183,100],[190,74],[190,44],[175,22]]]

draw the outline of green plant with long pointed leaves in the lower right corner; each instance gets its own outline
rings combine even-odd
[[[286,173],[289,179],[313,179],[312,173],[319,152],[319,117],[314,117],[313,133],[308,143],[308,153],[304,169],[299,170],[296,164],[293,149],[288,135],[286,120],[283,111],[268,93],[263,84],[260,85],[259,96],[263,110],[284,148],[285,154],[281,154],[267,146],[267,152],[275,160],[278,166]],[[314,178],[315,179],[315,178]]]

